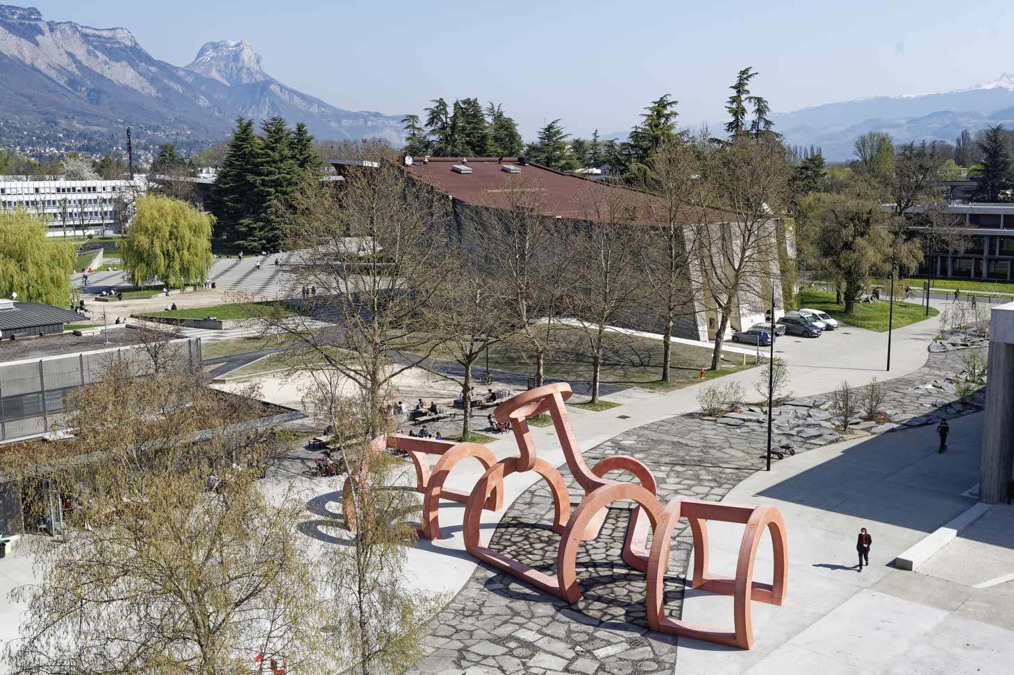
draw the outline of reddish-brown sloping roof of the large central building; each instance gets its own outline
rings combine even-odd
[[[462,162],[464,159],[464,162]],[[470,173],[452,170],[454,165],[467,166]],[[635,220],[649,223],[651,211],[666,213],[665,201],[637,190],[620,188],[605,182],[565,173],[555,169],[522,163],[518,157],[418,157],[411,166],[404,166],[409,173],[429,183],[442,193],[461,202],[491,208],[506,208],[506,194],[513,190],[535,190],[539,195],[532,200],[544,216],[595,220],[595,212],[609,204],[610,199],[621,198],[626,207],[636,210]],[[518,172],[504,170],[515,167]],[[519,178],[525,182],[519,182]],[[700,222],[697,212],[686,207],[685,224]]]

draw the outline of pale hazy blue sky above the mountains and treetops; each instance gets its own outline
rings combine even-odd
[[[41,0],[48,20],[126,26],[155,58],[250,41],[265,70],[339,107],[419,113],[430,98],[504,103],[529,137],[627,131],[662,93],[680,122],[722,122],[736,71],[775,110],[959,89],[1014,72],[1014,2]]]

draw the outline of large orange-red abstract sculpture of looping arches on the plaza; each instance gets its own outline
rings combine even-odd
[[[498,570],[517,577],[547,593],[568,602],[581,599],[581,589],[576,579],[576,557],[582,541],[598,536],[609,504],[631,500],[637,507],[631,512],[627,536],[622,550],[627,565],[647,574],[648,623],[654,630],[696,638],[698,640],[750,649],[753,628],[750,622],[750,602],[753,600],[780,605],[785,600],[788,581],[788,547],[785,522],[773,506],[743,507],[715,502],[678,498],[666,506],[658,501],[655,479],[641,461],[626,455],[612,455],[590,469],[581,456],[577,438],[570,425],[565,402],[571,396],[566,383],[550,384],[518,394],[497,406],[494,415],[498,422],[510,423],[517,441],[519,454],[496,461],[493,453],[478,443],[453,443],[412,436],[390,435],[375,439],[374,452],[384,447],[396,448],[408,453],[416,467],[416,490],[423,494],[423,514],[420,536],[427,539],[440,537],[438,508],[441,499],[464,503],[464,546],[475,557]],[[567,466],[574,479],[584,491],[581,503],[570,513],[570,496],[560,472],[549,462],[535,456],[535,445],[527,420],[549,413],[560,440]],[[440,455],[430,469],[426,455]],[[472,493],[444,489],[450,470],[462,459],[475,457],[486,468]],[[624,470],[634,474],[640,484],[618,482],[603,476],[609,471]],[[484,545],[480,539],[480,520],[483,510],[497,511],[503,507],[503,480],[512,473],[534,471],[550,486],[553,495],[554,515],[552,529],[561,535],[557,550],[556,579],[538,572],[502,552]],[[346,494],[351,488],[351,477],[346,478]],[[346,505],[346,520],[350,528],[355,522],[352,510]],[[670,539],[680,518],[690,522],[694,535],[694,581],[692,588],[733,596],[733,629],[723,630],[700,626],[665,615],[663,587],[669,564]],[[734,578],[712,575],[708,569],[707,521],[719,520],[743,523],[745,530],[739,546],[739,556]],[[772,584],[753,582],[753,564],[760,537],[767,528],[771,532],[774,551],[774,578]],[[652,537],[650,550],[648,535]]]

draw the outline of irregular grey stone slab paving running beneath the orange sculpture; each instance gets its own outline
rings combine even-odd
[[[982,409],[981,389],[963,405],[956,394],[933,382],[963,370],[963,351],[931,354],[918,371],[885,381],[892,418],[909,427],[935,424]],[[819,406],[829,396],[797,400]],[[819,407],[813,407],[819,409]],[[600,413],[604,415],[608,413]],[[796,452],[819,447],[841,437],[800,438],[785,428],[775,442],[789,442]],[[883,431],[888,431],[884,429]],[[869,432],[861,431],[859,435]],[[855,436],[850,436],[855,438]],[[720,501],[733,486],[765,466],[767,425],[744,422],[730,426],[713,419],[684,415],[625,432],[584,453],[589,465],[612,454],[630,454],[643,461],[667,503],[677,496]],[[565,466],[571,503],[583,493]],[[632,479],[629,474],[608,477]],[[544,572],[555,573],[560,537],[549,528],[553,502],[536,482],[508,507],[490,545]],[[620,556],[628,508],[613,505],[598,538],[584,542],[577,558],[577,579],[584,599],[568,604],[513,577],[479,566],[461,591],[433,622],[431,650],[416,672],[443,673],[671,673],[676,662],[676,638],[647,627],[644,575],[624,565]],[[666,582],[666,607],[680,616],[683,581],[692,540],[686,525],[673,532],[672,557]]]

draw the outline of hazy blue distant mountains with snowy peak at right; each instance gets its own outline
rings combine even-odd
[[[818,145],[830,160],[853,158],[853,144],[871,131],[889,133],[895,142],[947,141],[962,129],[972,134],[988,126],[1014,124],[1014,75],[968,89],[939,93],[870,96],[805,107],[772,116],[790,145]]]

